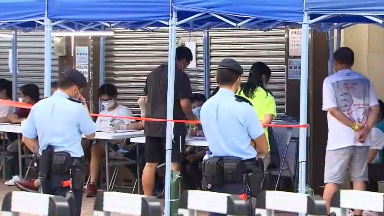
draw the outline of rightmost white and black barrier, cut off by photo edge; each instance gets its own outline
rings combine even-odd
[[[334,193],[330,212],[336,216],[348,215],[349,209],[384,212],[384,193],[357,190],[339,190]]]

